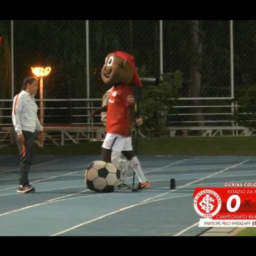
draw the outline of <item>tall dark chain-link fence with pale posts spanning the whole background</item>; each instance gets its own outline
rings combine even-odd
[[[178,120],[205,124],[211,121],[207,115],[191,120],[193,114],[207,114],[203,98],[231,99],[234,114],[232,99],[255,84],[255,37],[255,20],[2,20],[0,99],[12,99],[20,91],[31,67],[51,66],[52,72],[44,78],[46,123],[67,123],[69,116],[76,116],[74,122],[83,119],[88,123],[89,101],[83,105],[73,101],[71,106],[71,101],[50,100],[101,99],[107,89],[100,75],[104,57],[123,50],[135,56],[140,76],[161,78],[162,74],[180,71],[183,82],[179,97],[197,101],[179,105],[202,107],[177,112]],[[100,101],[95,104],[99,106]],[[8,101],[0,102],[2,125],[9,105]],[[213,116],[211,119],[216,120]],[[169,124],[173,119],[169,116]]]

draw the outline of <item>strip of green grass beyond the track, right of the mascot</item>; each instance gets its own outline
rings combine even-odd
[[[255,155],[256,137],[174,137],[140,140],[138,153],[163,155]]]

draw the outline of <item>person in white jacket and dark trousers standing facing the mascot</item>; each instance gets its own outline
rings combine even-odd
[[[39,141],[44,141],[44,132],[37,116],[35,95],[38,90],[38,79],[33,76],[24,78],[22,91],[13,100],[12,123],[16,132],[18,148],[20,151],[20,186],[18,193],[33,193],[35,188],[29,184],[29,168],[31,166],[33,143],[37,132]]]

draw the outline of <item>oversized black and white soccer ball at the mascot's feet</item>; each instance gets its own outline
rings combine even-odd
[[[120,180],[120,170],[112,163],[98,160],[88,165],[85,178],[88,189],[113,192]]]

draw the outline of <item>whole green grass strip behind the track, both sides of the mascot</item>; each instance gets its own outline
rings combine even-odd
[[[103,142],[38,148],[41,155],[99,155]],[[16,147],[0,148],[0,155],[16,155]],[[256,136],[139,138],[138,155],[256,155]]]

